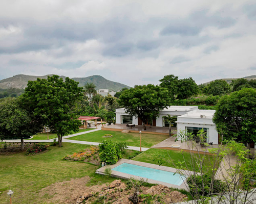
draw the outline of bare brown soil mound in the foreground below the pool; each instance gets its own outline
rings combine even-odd
[[[133,204],[129,197],[134,189],[127,188],[127,185],[120,180],[113,181],[110,185],[95,185],[87,187],[90,181],[89,176],[71,181],[58,182],[52,184],[39,192],[39,197],[47,203],[114,203],[114,204]],[[166,186],[157,185],[150,187],[141,187],[139,194],[146,194],[147,197],[139,198],[138,203],[147,203],[148,197],[152,203],[175,203],[186,200],[186,195],[172,191]]]

